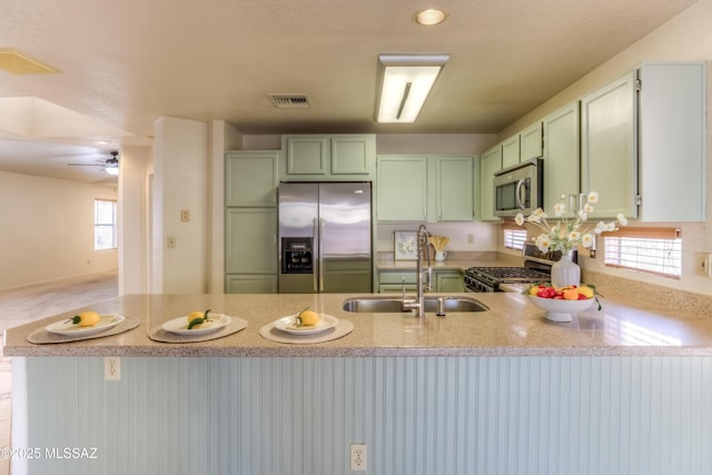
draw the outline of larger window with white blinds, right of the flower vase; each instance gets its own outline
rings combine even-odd
[[[605,265],[670,278],[682,275],[682,236],[673,228],[623,228],[604,232]]]

